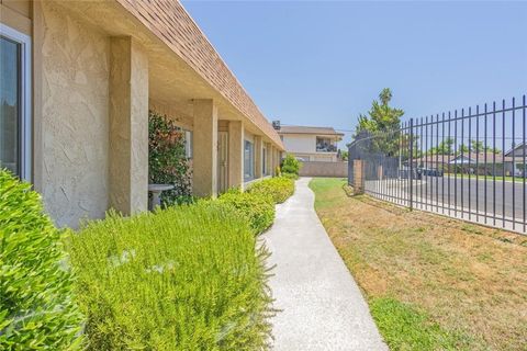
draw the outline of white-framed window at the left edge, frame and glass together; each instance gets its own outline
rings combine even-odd
[[[31,38],[0,24],[0,167],[31,180]]]

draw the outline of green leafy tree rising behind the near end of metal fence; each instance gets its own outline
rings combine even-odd
[[[379,101],[374,100],[368,114],[359,115],[355,138],[359,134],[373,135],[371,147],[373,151],[395,155],[399,149],[399,127],[404,111],[390,106],[392,91],[384,88],[379,94]]]

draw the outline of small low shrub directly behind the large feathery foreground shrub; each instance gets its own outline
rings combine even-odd
[[[217,201],[245,216],[255,234],[262,233],[274,220],[274,203],[269,194],[243,193],[235,189],[222,194]]]

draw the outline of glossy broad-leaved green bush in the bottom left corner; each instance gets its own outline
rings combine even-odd
[[[40,195],[0,169],[0,349],[79,348],[71,285],[60,231]]]

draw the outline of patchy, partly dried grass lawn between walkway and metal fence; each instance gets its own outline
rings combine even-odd
[[[527,350],[527,237],[348,197],[315,208],[392,350]]]

